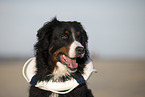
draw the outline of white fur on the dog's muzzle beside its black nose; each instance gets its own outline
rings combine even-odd
[[[74,58],[76,57],[76,48],[77,47],[83,47],[82,44],[78,41],[74,41],[71,45],[70,45],[70,49],[69,49],[69,57]]]

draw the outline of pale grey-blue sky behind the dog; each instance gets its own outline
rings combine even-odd
[[[145,0],[0,1],[0,56],[33,56],[37,30],[54,16],[82,23],[91,54],[145,58]]]

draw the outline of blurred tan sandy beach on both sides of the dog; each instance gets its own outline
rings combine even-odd
[[[28,97],[25,61],[0,61],[0,97]],[[145,61],[96,60],[88,81],[95,97],[145,97]]]

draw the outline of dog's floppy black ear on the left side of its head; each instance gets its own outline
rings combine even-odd
[[[46,22],[43,27],[38,30],[38,42],[35,45],[36,49],[46,50],[49,47],[53,30],[58,23],[59,21],[55,17],[52,21]]]

